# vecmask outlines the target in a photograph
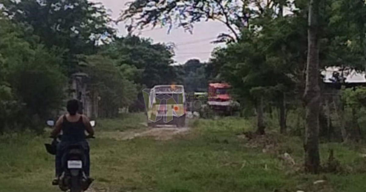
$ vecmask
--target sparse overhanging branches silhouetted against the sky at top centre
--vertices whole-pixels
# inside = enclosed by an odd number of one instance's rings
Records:
[[[120,20],[131,21],[128,31],[149,25],[168,26],[170,31],[176,24],[191,33],[194,23],[216,20],[229,30],[220,34],[218,41],[232,42],[240,38],[240,31],[249,26],[251,19],[280,14],[285,4],[283,0],[134,0]]]

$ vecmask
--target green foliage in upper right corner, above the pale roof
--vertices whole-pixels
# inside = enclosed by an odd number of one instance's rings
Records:
[[[364,69],[366,5],[362,1],[325,1],[321,11],[320,64]]]

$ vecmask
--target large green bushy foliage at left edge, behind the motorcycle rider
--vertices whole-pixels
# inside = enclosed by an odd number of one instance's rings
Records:
[[[63,99],[60,57],[40,44],[22,39],[21,27],[0,19],[0,108],[2,126],[39,128]]]

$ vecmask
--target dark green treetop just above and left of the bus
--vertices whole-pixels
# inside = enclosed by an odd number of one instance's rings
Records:
[[[153,44],[149,39],[137,36],[116,38],[111,44],[105,45],[102,55],[116,61],[128,80],[139,87],[152,88],[157,84],[171,84],[175,71],[170,64],[172,50],[164,44]]]

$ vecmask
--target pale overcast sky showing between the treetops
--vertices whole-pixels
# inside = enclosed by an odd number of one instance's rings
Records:
[[[101,2],[107,9],[112,11],[113,19],[118,18],[121,10],[125,8],[125,4],[131,0],[93,0]],[[119,33],[126,35],[124,23],[117,26]],[[153,39],[154,42],[173,42],[177,45],[175,50],[175,60],[178,63],[185,63],[188,59],[196,58],[201,61],[207,61],[211,55],[213,48],[217,45],[211,44],[217,35],[226,32],[226,27],[219,22],[201,22],[194,26],[193,34],[184,32],[183,29],[173,29],[167,34],[167,28],[151,28],[142,30],[141,37]]]

